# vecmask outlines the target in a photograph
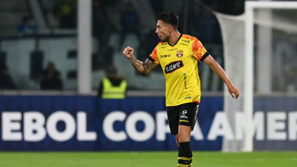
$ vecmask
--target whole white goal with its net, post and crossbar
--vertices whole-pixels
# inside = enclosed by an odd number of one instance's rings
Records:
[[[243,15],[215,15],[241,91],[235,100],[224,90],[222,151],[297,151],[297,2],[247,1]]]

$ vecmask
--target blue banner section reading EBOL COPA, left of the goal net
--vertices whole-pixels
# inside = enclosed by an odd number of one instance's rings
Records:
[[[201,99],[193,150],[221,150],[207,139],[222,97]],[[176,150],[164,97],[103,100],[94,96],[1,96],[1,151]]]

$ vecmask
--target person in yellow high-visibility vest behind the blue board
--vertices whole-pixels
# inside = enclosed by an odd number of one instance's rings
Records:
[[[127,81],[117,75],[117,69],[110,66],[105,70],[106,76],[98,88],[98,96],[102,99],[124,99],[126,97]]]

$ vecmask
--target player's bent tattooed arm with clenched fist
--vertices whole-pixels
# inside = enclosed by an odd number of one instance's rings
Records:
[[[145,76],[148,75],[154,68],[158,66],[158,64],[150,61],[149,59],[146,59],[145,62],[141,62],[137,60],[134,55],[134,50],[131,47],[127,47],[123,51],[123,55],[128,58],[132,64],[132,66],[135,68],[137,72],[139,72],[141,75]]]

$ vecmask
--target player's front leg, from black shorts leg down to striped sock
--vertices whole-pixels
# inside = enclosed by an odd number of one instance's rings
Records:
[[[186,103],[181,106],[179,113],[179,158],[178,166],[191,167],[193,154],[190,145],[191,131],[196,124],[196,115],[198,113],[198,103]]]

